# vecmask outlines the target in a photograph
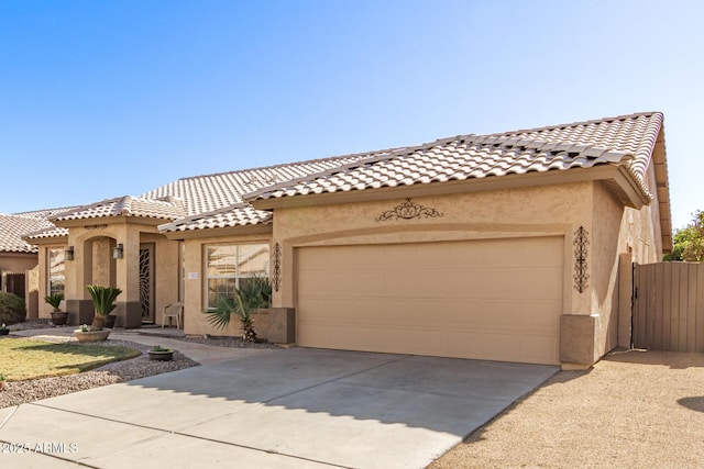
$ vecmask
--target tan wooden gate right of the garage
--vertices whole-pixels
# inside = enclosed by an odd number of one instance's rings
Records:
[[[704,264],[634,265],[635,348],[704,351]]]

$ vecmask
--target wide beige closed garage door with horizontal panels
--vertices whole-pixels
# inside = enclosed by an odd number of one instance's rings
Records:
[[[562,237],[297,255],[300,346],[559,362]]]

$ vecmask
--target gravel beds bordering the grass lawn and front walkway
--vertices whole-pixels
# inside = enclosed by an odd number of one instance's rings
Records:
[[[16,330],[37,330],[50,327],[45,320],[30,320],[28,322],[8,326],[11,331]],[[62,327],[62,326],[57,326]],[[76,328],[76,326],[66,326]],[[158,334],[154,334],[158,337]],[[166,336],[164,336],[166,337]],[[45,342],[76,342],[74,337],[58,337],[52,335],[40,335],[32,337],[37,340]],[[168,338],[177,338],[168,336]],[[11,337],[2,338],[2,340],[12,340]],[[219,347],[257,347],[257,348],[277,348],[272,344],[245,344],[237,337],[184,337],[180,340],[195,342],[199,344],[215,345]],[[185,357],[178,351],[174,351],[173,361],[155,361],[150,360],[147,350],[151,346],[135,344],[129,340],[110,339],[101,343],[101,345],[123,345],[127,347],[142,350],[142,356],[125,361],[116,361],[91,371],[56,378],[43,378],[28,381],[15,381],[6,383],[6,389],[0,391],[0,409],[19,405],[25,402],[37,401],[40,399],[53,398],[56,395],[68,394],[70,392],[82,391],[99,386],[114,384],[117,382],[131,381],[133,379],[145,378],[147,376],[160,375],[169,371],[176,371],[184,368],[198,366],[197,361]]]

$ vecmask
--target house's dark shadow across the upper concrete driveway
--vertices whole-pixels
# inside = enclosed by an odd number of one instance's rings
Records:
[[[484,424],[556,372],[554,366],[294,348],[261,350],[129,386],[464,437],[469,426]],[[253,411],[232,405],[230,412]]]

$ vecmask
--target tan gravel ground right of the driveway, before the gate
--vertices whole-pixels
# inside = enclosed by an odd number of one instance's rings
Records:
[[[428,469],[574,467],[704,467],[704,354],[629,350],[562,371]]]

